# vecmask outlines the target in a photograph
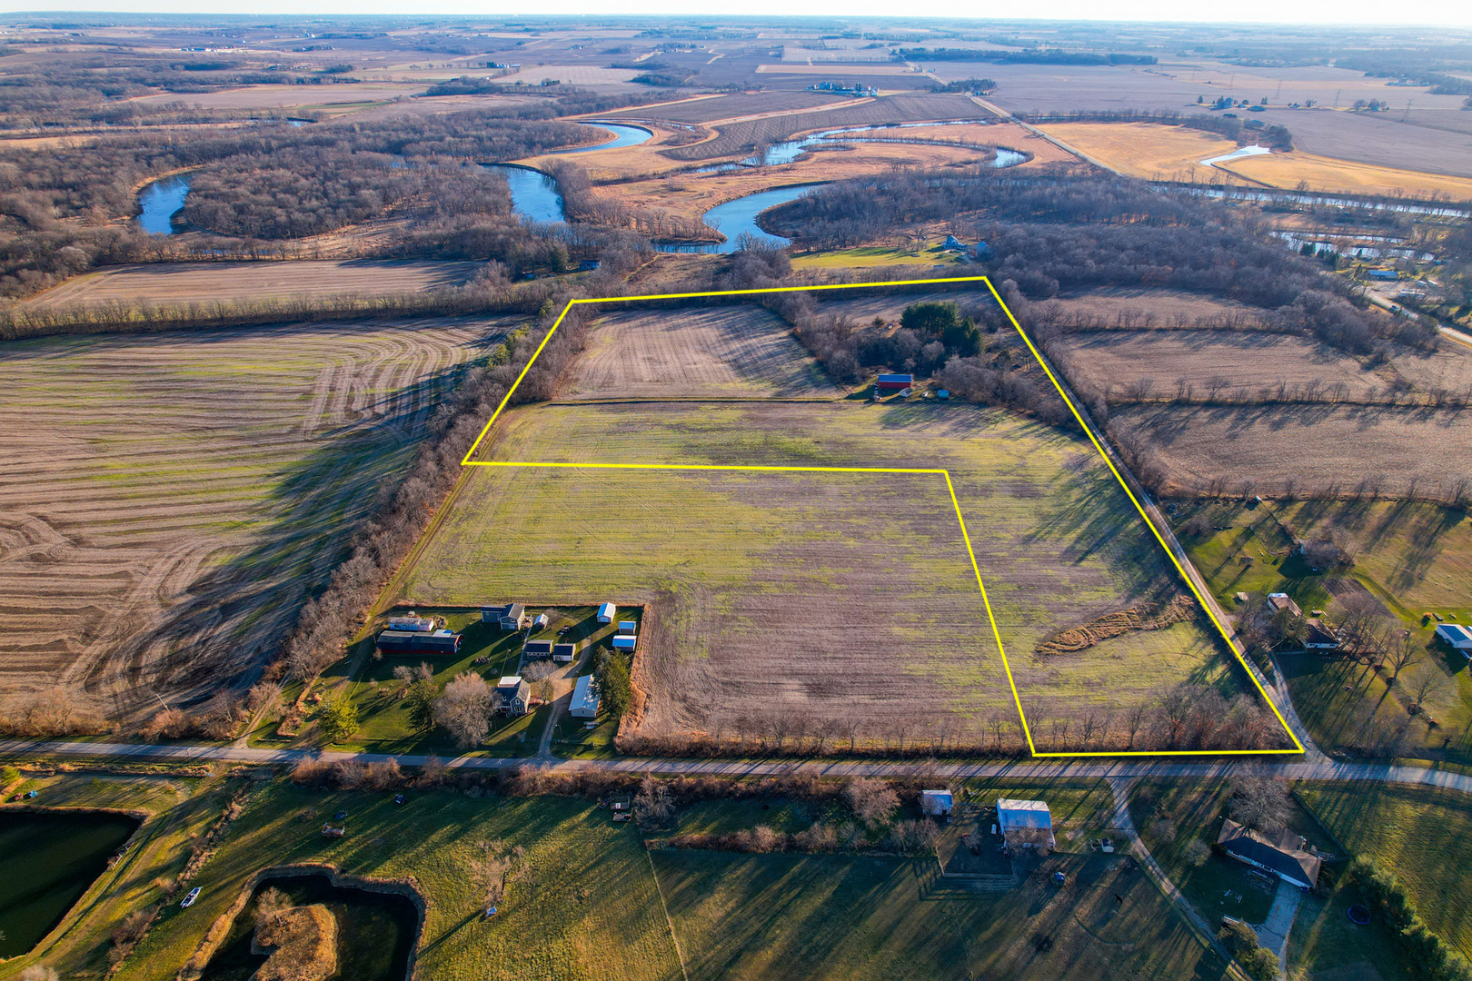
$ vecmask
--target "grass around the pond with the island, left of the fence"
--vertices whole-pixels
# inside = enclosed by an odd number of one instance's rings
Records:
[[[649,859],[631,825],[614,825],[592,802],[503,799],[450,791],[322,793],[281,782],[262,788],[231,827],[196,884],[199,902],[171,907],[118,975],[172,978],[206,928],[266,866],[324,862],[372,878],[412,877],[427,899],[417,975],[436,981],[620,978],[673,981],[680,963]],[[347,810],[347,835],[318,834]],[[500,913],[481,915],[470,865],[480,843],[527,850],[528,875],[512,882]]]

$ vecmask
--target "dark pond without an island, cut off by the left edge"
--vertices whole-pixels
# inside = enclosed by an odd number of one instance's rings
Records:
[[[0,957],[38,944],[137,830],[116,813],[0,812]]]

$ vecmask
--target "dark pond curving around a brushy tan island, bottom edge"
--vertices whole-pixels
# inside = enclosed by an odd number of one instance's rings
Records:
[[[321,903],[337,919],[337,974],[353,981],[405,981],[420,930],[420,910],[406,896],[333,885],[327,875],[278,875],[263,880],[230,935],[205,966],[200,981],[249,981],[266,962],[250,952],[256,900],[268,888],[287,894],[293,906]]]

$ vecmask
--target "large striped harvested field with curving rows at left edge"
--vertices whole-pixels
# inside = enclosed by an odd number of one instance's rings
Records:
[[[124,716],[274,653],[490,321],[3,346],[3,694]]]

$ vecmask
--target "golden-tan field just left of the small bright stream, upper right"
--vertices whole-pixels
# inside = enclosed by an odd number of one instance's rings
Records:
[[[1054,122],[1039,128],[1120,174],[1142,181],[1220,179],[1223,175],[1204,166],[1201,160],[1236,149],[1235,140],[1211,132],[1148,122]]]

